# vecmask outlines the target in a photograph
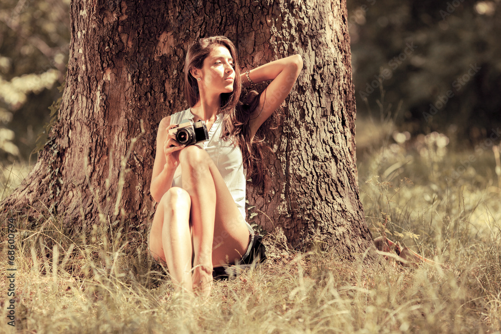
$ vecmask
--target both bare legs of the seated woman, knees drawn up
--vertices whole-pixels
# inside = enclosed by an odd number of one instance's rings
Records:
[[[155,259],[167,262],[178,289],[192,291],[194,287],[198,294],[208,296],[212,266],[241,257],[249,232],[207,152],[187,146],[180,151],[179,161],[184,189],[170,188],[158,204],[150,232],[150,252]]]

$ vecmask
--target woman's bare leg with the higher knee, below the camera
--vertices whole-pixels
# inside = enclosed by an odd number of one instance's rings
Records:
[[[246,250],[249,232],[221,174],[198,146],[179,152],[183,189],[191,197],[193,287],[208,296],[212,266],[232,262]]]

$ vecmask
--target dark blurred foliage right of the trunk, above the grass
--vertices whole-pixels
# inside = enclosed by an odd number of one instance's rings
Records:
[[[348,18],[359,117],[384,98],[399,129],[412,135],[439,131],[474,144],[496,130],[499,0],[351,0]]]

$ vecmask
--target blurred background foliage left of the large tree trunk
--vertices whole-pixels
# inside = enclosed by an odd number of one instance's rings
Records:
[[[0,160],[30,160],[46,141],[49,107],[62,95],[70,42],[70,0],[2,0]],[[31,159],[34,163],[36,156]]]

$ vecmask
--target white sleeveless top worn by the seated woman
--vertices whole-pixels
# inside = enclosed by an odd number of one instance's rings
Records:
[[[179,124],[185,119],[193,121],[194,117],[191,108],[189,108],[171,115],[170,124]],[[238,145],[234,145],[230,140],[220,139],[223,130],[222,119],[222,114],[216,115],[216,120],[208,131],[209,140],[195,145],[204,149],[212,158],[245,220],[245,169],[243,168],[242,152]],[[181,165],[177,167],[174,173],[172,186],[182,188]],[[247,222],[246,224],[249,230],[252,231]]]

